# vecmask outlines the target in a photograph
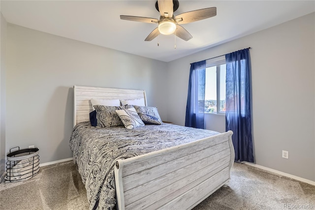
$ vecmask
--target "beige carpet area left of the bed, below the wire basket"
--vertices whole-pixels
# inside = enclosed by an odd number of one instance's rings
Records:
[[[0,183],[0,210],[87,210],[85,187],[76,165],[40,168],[27,181]]]

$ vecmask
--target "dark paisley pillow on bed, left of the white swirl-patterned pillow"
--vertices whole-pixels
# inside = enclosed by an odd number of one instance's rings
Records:
[[[126,106],[106,106],[106,105],[95,105],[96,119],[98,127],[116,127],[124,126],[123,122],[119,118],[116,110],[131,108],[132,105]]]

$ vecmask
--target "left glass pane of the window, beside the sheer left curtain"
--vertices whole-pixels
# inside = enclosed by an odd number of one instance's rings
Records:
[[[217,113],[217,67],[206,69],[205,88],[205,113]]]

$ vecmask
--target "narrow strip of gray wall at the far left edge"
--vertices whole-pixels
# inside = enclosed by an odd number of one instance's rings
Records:
[[[6,21],[0,13],[0,177],[5,170],[5,48]]]

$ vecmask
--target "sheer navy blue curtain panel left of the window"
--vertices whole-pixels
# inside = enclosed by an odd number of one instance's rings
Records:
[[[206,61],[190,65],[185,126],[204,128]]]

